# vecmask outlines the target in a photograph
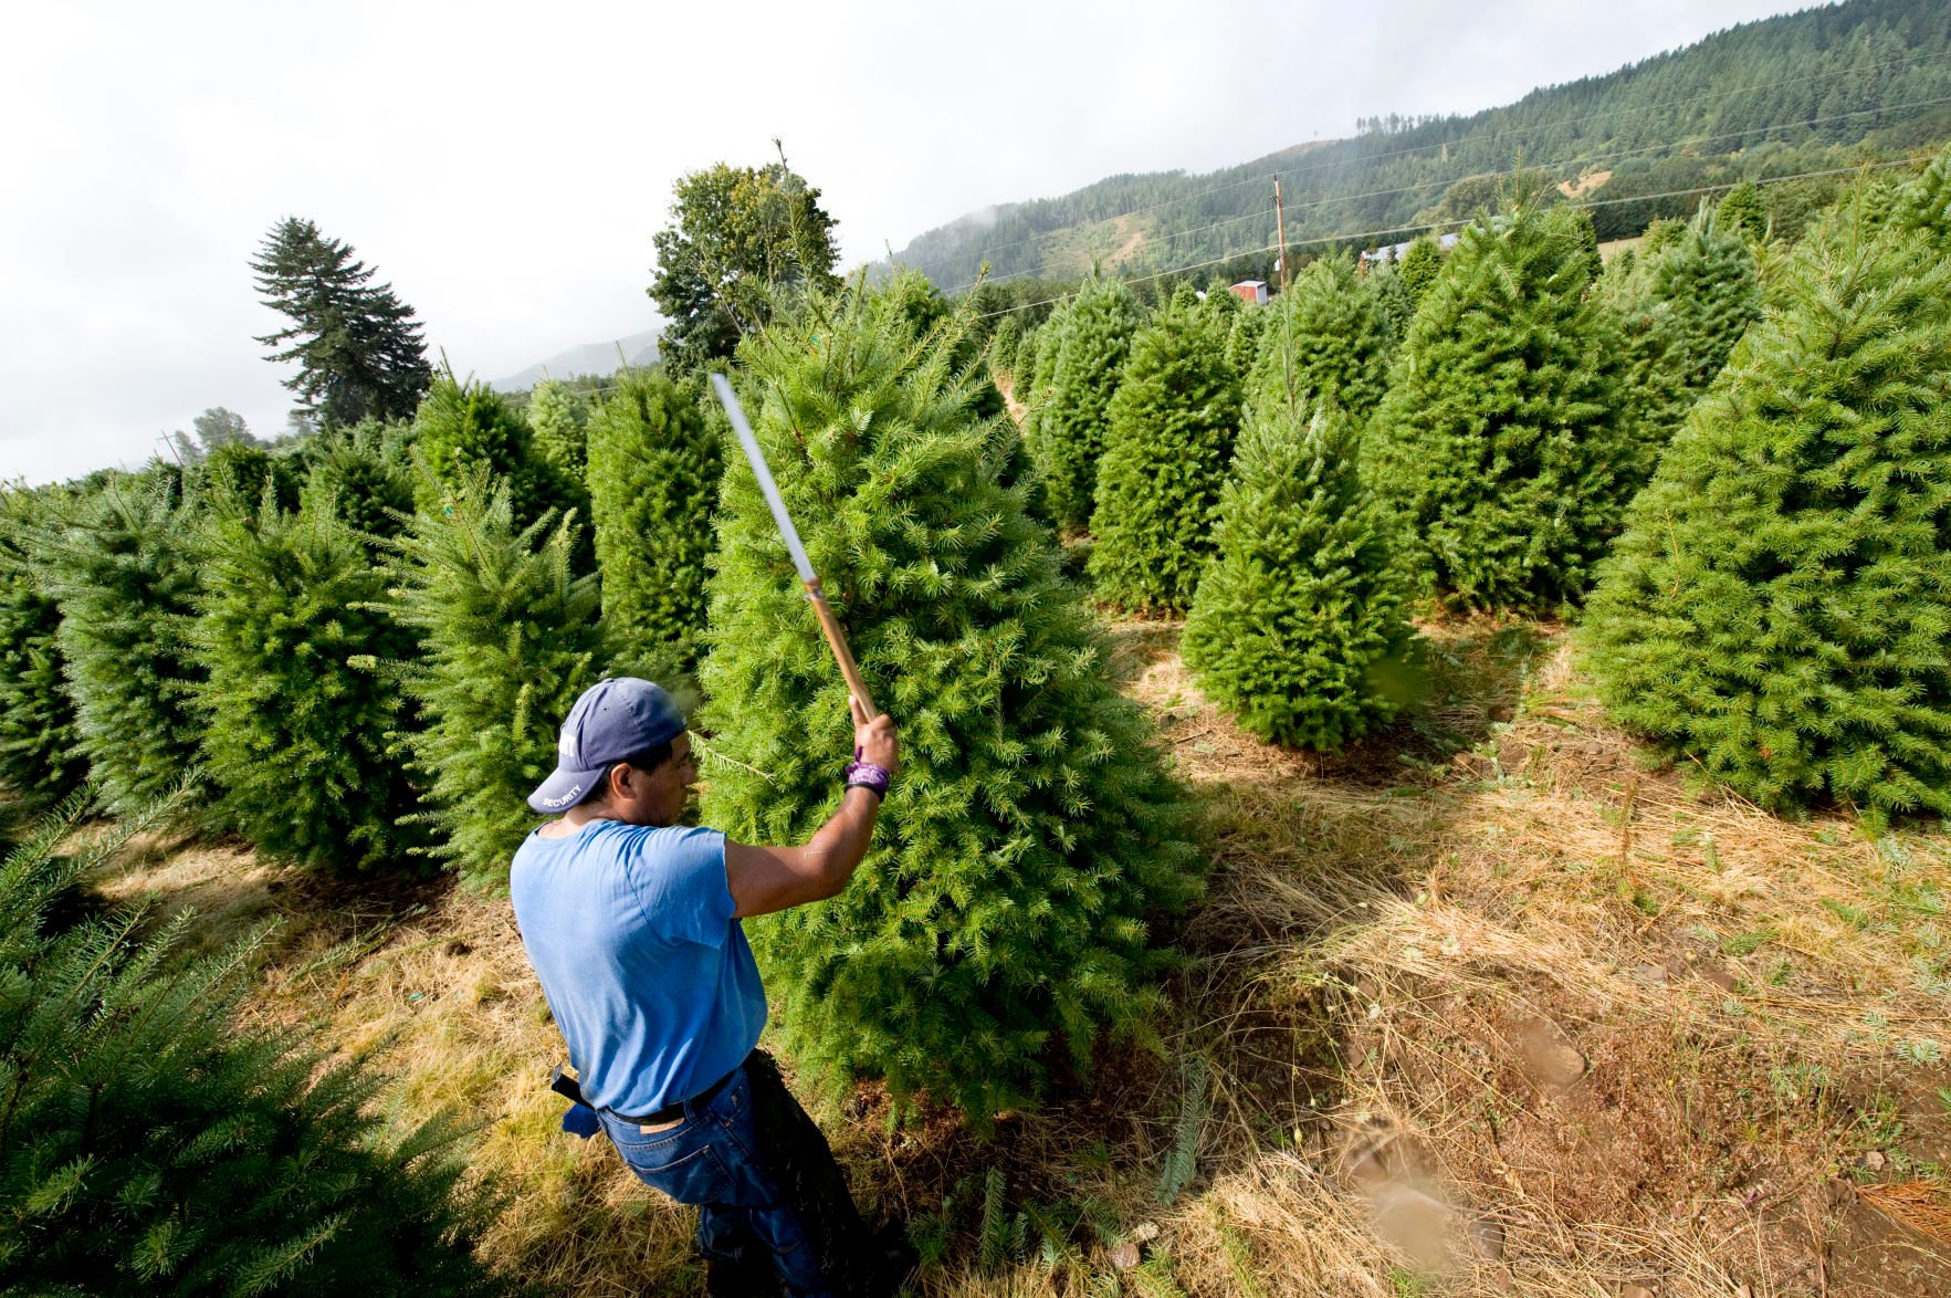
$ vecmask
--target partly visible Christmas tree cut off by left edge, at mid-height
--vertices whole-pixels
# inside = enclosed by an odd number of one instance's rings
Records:
[[[86,775],[60,658],[60,607],[33,562],[49,492],[0,492],[0,785],[39,810]]]

